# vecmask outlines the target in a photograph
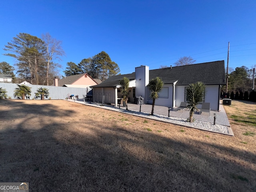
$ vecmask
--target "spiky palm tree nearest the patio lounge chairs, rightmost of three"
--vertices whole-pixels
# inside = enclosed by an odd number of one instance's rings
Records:
[[[187,91],[187,102],[186,108],[190,108],[188,121],[193,122],[194,112],[198,110],[196,107],[199,103],[203,102],[205,96],[205,84],[203,82],[196,82],[195,84],[189,84]]]

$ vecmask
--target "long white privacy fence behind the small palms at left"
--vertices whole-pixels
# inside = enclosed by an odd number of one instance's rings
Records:
[[[21,85],[21,84],[20,84]],[[78,98],[84,98],[91,90],[91,88],[71,88],[71,87],[56,87],[56,86],[46,86],[46,85],[26,85],[28,87],[31,87],[31,96],[30,99],[35,97],[36,90],[38,88],[47,88],[49,89],[49,98],[51,99],[66,99],[70,95],[78,95]],[[11,97],[12,99],[17,99],[14,98],[14,90],[17,88],[16,83],[0,83],[0,88],[6,89],[7,91],[7,96]],[[47,99],[47,98],[45,98]]]

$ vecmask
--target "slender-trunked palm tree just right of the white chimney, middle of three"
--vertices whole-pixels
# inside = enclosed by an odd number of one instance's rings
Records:
[[[162,90],[164,82],[160,77],[156,77],[149,81],[148,86],[151,91],[150,98],[153,99],[151,115],[154,115],[155,100],[158,99],[158,94]]]

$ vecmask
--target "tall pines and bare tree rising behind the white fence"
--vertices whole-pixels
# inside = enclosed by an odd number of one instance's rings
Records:
[[[60,65],[55,63],[65,55],[62,42],[42,34],[41,38],[27,33],[19,33],[4,50],[6,56],[17,60],[17,74],[20,79],[26,79],[31,84],[52,84],[54,75],[58,74]]]

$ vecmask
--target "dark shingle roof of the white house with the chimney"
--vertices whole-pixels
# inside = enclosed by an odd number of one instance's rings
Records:
[[[101,84],[91,87],[115,87],[123,77],[134,80],[135,72],[111,76]],[[226,83],[224,60],[149,70],[149,79],[155,77],[161,77],[164,84],[173,84],[177,80],[176,85],[189,85],[198,81],[202,81],[206,85]]]

